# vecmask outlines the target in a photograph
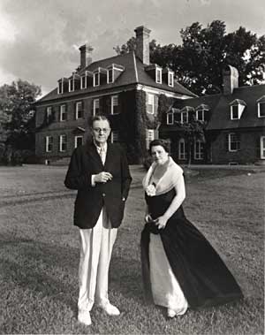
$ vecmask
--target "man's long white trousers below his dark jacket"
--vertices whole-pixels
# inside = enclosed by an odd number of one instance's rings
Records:
[[[79,310],[91,310],[94,302],[105,305],[109,302],[108,283],[112,247],[117,237],[117,228],[110,226],[103,207],[92,229],[79,229]]]

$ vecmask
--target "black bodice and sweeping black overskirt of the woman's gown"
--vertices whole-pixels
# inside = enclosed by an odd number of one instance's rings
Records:
[[[154,219],[162,216],[175,195],[175,189],[161,195],[145,194],[151,216]],[[161,235],[170,267],[189,307],[214,306],[243,297],[230,270],[208,240],[186,219],[182,206],[170,217],[163,230],[155,228],[154,232],[159,232]],[[153,301],[148,255],[150,233],[150,228],[146,225],[141,232],[140,240],[142,275],[147,301]]]

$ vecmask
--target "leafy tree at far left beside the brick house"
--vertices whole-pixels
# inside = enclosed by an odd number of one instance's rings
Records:
[[[41,88],[26,80],[0,87],[0,141],[16,149],[34,148],[34,108]]]

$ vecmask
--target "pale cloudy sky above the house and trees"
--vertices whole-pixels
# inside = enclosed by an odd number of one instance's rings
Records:
[[[79,65],[79,46],[93,60],[115,56],[113,47],[151,30],[150,40],[181,44],[180,30],[215,19],[231,33],[240,26],[265,34],[264,0],[0,0],[0,86],[27,80],[47,94]]]

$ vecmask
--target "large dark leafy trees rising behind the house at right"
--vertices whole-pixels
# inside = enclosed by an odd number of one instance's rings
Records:
[[[169,66],[178,82],[198,95],[223,91],[223,68],[239,70],[239,85],[254,85],[264,80],[265,35],[258,37],[246,28],[226,34],[223,21],[214,20],[207,27],[194,22],[181,29],[182,44],[161,46],[150,42],[150,61]],[[121,53],[135,48],[133,37],[121,47]]]

